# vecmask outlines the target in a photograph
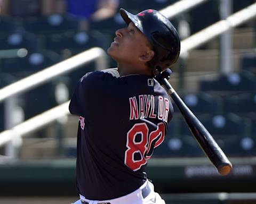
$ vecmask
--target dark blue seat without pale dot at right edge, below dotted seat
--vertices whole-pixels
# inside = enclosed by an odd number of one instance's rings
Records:
[[[223,111],[233,113],[256,112],[256,92],[225,97]]]

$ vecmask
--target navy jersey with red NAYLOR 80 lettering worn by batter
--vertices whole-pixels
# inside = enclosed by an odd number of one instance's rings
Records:
[[[109,200],[137,190],[173,114],[160,84],[146,75],[120,77],[116,69],[94,71],[78,82],[69,111],[79,116],[79,193]]]

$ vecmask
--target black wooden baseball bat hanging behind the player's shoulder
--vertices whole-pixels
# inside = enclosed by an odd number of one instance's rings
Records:
[[[205,155],[210,159],[212,164],[217,168],[219,174],[227,175],[231,172],[232,164],[221,150],[217,142],[213,139],[212,135],[206,130],[204,125],[198,120],[198,118],[190,111],[187,105],[182,101],[177,92],[172,88],[171,84],[167,80],[170,77],[163,75],[161,78],[161,84],[165,87],[168,94],[173,99],[174,103],[179,108],[183,118],[185,119],[190,132],[193,134],[196,141],[199,143],[199,146],[205,152]],[[166,79],[167,78],[167,79]]]

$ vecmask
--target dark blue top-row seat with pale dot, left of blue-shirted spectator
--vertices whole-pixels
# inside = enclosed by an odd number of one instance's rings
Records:
[[[78,24],[78,19],[68,14],[30,17],[23,21],[26,31],[39,34],[78,30]]]

